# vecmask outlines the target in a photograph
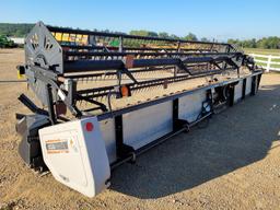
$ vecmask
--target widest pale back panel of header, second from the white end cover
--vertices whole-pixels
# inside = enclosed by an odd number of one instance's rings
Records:
[[[173,129],[173,102],[165,102],[122,116],[124,143],[139,149]]]

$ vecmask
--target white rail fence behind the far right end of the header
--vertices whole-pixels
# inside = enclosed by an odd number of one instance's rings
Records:
[[[255,61],[266,69],[266,72],[269,71],[279,71],[280,72],[280,56],[272,55],[259,55],[259,54],[250,54],[254,57]],[[275,61],[279,60],[279,61]]]

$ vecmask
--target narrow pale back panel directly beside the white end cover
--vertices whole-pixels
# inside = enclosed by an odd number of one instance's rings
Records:
[[[100,121],[102,138],[105,141],[105,147],[109,163],[113,163],[117,160],[116,156],[116,132],[115,132],[115,120],[106,119]]]

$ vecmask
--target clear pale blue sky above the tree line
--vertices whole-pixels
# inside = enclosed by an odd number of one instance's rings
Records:
[[[129,33],[167,32],[226,40],[280,36],[280,0],[2,0],[0,23]]]

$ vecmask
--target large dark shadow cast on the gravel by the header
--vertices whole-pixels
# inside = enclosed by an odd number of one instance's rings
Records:
[[[159,198],[190,189],[264,159],[279,139],[280,85],[261,86],[254,97],[213,116],[150,150],[113,173],[112,189],[138,198]]]

